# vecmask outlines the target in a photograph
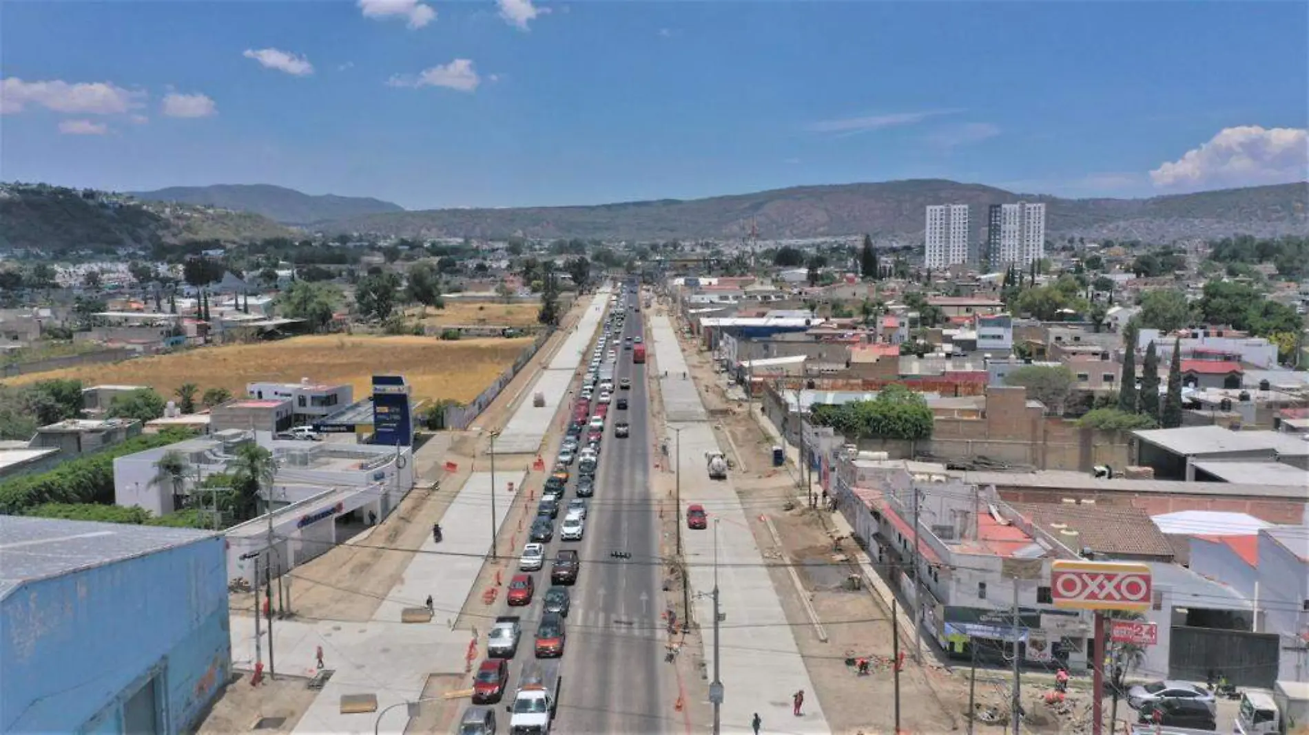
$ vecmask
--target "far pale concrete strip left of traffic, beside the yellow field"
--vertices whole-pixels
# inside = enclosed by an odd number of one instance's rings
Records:
[[[496,454],[535,454],[550,432],[559,405],[568,395],[568,386],[577,374],[586,353],[586,345],[596,336],[605,307],[609,305],[609,290],[601,289],[590,299],[590,306],[577,320],[577,327],[568,335],[550,360],[550,366],[541,371],[535,382],[526,390],[528,399],[514,411],[509,422],[495,442]],[[543,405],[534,405],[533,396],[542,394]]]

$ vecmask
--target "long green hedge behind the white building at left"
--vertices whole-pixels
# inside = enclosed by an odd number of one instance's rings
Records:
[[[181,429],[136,437],[105,451],[64,462],[48,472],[24,475],[0,483],[0,513],[21,515],[45,504],[111,505],[115,458],[166,446],[188,437],[191,433]]]

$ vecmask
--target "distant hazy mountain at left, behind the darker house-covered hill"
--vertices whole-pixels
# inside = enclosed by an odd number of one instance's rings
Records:
[[[283,225],[314,225],[327,220],[404,211],[399,204],[381,199],[332,194],[314,196],[272,184],[173,186],[130,194],[147,201],[174,201],[251,212]]]

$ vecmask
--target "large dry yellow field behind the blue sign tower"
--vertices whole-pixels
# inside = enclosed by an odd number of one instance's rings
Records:
[[[7,382],[21,385],[76,378],[86,386],[144,385],[168,398],[182,383],[195,383],[202,394],[223,387],[232,395],[245,395],[246,383],[255,381],[289,383],[309,378],[323,383],[350,383],[359,400],[370,394],[376,373],[404,375],[415,399],[467,402],[512,365],[530,343],[526,337],[437,341],[418,336],[314,335],[68,368]]]

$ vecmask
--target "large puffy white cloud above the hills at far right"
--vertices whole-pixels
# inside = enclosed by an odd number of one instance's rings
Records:
[[[1223,128],[1208,143],[1149,173],[1160,188],[1241,187],[1309,178],[1304,128]]]

